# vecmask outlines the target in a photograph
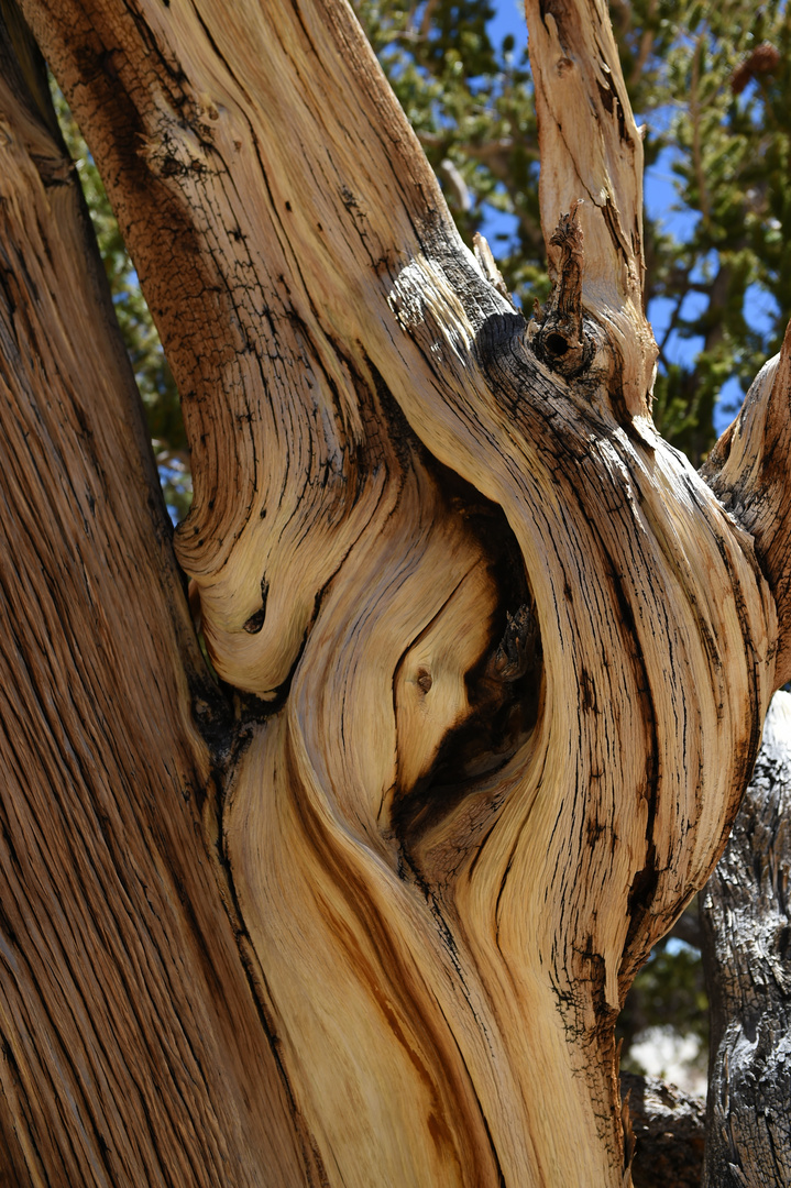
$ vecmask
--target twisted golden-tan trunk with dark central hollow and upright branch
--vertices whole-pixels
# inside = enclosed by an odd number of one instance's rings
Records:
[[[344,4],[24,11],[182,392],[177,555],[235,690],[214,908],[260,1009],[245,1075],[268,1083],[266,1034],[287,1108],[223,1182],[621,1188],[615,1016],[724,843],[778,621],[648,419],[603,8],[531,17],[580,138],[589,100],[613,116],[586,156],[542,115],[557,285],[531,324]]]

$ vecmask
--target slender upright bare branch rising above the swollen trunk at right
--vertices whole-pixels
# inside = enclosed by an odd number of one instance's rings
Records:
[[[627,413],[651,438],[657,348],[643,283],[643,140],[632,115],[603,0],[526,0],[542,154],[542,225],[551,258],[562,211],[580,208],[584,308],[616,354]]]

